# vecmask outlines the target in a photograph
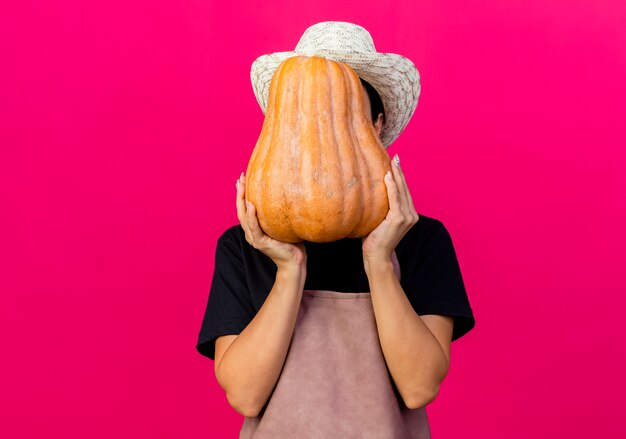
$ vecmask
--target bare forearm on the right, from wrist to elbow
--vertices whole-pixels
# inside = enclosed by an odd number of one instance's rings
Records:
[[[391,260],[366,264],[366,272],[389,372],[407,407],[423,407],[435,398],[445,378],[446,356],[413,309]]]

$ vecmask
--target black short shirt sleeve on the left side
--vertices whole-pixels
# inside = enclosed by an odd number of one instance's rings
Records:
[[[217,241],[215,268],[196,344],[197,351],[215,360],[217,337],[239,334],[253,319],[253,310],[241,247],[233,234],[227,231]]]

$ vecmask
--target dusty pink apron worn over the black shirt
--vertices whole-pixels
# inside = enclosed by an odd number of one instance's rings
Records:
[[[400,265],[393,254],[400,279]],[[303,290],[272,395],[240,439],[430,439],[426,407],[404,404],[378,339],[370,292]]]

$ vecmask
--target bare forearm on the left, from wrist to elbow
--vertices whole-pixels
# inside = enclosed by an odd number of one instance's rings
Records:
[[[306,266],[279,268],[263,306],[219,364],[217,379],[231,406],[244,416],[255,416],[261,410],[278,381],[305,279]]]

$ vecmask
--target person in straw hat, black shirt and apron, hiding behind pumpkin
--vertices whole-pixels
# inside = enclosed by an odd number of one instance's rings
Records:
[[[257,59],[261,107],[268,66],[311,51],[359,74],[365,111],[389,146],[417,105],[417,70],[377,53],[351,23],[316,24],[296,51]],[[430,438],[425,406],[448,372],[451,342],[475,321],[450,235],[416,212],[399,165],[396,155],[382,223],[365,238],[331,243],[266,236],[246,205],[243,173],[237,180],[240,224],[218,239],[197,349],[215,360],[220,386],[245,417],[241,438]]]

